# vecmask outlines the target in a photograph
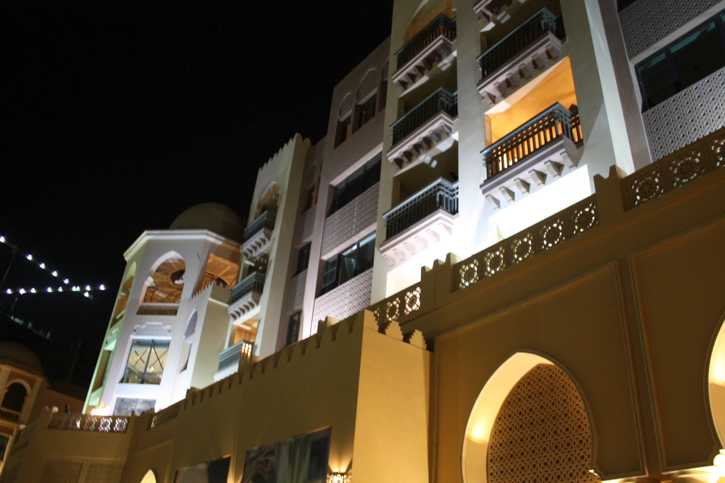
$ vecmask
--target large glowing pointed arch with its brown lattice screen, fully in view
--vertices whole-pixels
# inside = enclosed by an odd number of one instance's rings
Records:
[[[463,442],[466,483],[600,483],[579,390],[551,361],[516,353],[492,375]]]

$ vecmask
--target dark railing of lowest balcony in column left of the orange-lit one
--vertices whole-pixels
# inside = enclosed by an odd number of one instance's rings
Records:
[[[437,209],[444,209],[450,214],[458,212],[458,182],[439,177],[387,211],[383,215],[385,239],[394,237]]]

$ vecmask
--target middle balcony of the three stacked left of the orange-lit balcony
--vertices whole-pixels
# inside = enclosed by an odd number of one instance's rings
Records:
[[[448,138],[457,117],[458,93],[439,88],[390,125],[393,146],[387,152],[388,159],[402,169],[415,156],[423,156]]]

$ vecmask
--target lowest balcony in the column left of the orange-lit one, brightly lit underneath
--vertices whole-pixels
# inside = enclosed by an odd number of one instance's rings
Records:
[[[390,266],[415,256],[453,231],[458,217],[458,183],[438,178],[383,215],[380,252]]]

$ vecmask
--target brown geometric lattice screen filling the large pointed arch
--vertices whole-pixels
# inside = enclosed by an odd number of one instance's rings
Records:
[[[557,366],[535,366],[496,416],[489,483],[600,483],[591,461],[592,432],[579,391]]]

